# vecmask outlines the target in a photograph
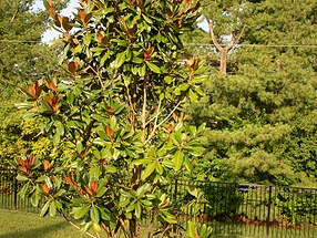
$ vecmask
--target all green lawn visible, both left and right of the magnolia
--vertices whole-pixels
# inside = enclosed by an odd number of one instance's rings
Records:
[[[264,238],[266,227],[213,223],[214,238]],[[146,228],[142,232],[146,234]],[[18,210],[0,209],[0,238],[86,238],[61,217],[40,217]],[[105,236],[102,236],[103,238]],[[145,237],[145,236],[142,236]],[[269,228],[269,238],[315,238],[317,229]]]

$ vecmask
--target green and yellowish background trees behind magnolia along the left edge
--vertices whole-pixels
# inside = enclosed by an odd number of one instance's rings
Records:
[[[61,10],[67,2],[59,1],[57,9]],[[21,114],[13,106],[21,100],[17,85],[40,80],[44,73],[57,70],[58,54],[61,52],[58,45],[49,46],[41,42],[51,20],[45,10],[34,9],[34,3],[35,0],[0,2],[1,159],[23,155],[38,134],[21,123]],[[23,125],[28,132],[23,132]]]

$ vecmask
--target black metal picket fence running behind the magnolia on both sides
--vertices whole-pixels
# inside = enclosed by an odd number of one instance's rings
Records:
[[[0,208],[38,213],[19,188],[16,173],[1,169]],[[317,189],[175,179],[168,190],[180,224],[208,224],[214,237],[317,237]]]

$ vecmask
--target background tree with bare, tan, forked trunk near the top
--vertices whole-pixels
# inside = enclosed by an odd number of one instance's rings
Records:
[[[202,1],[203,18],[209,30],[209,45],[204,45],[209,53],[209,65],[223,74],[233,73],[235,63],[231,58],[235,46],[244,34],[245,15],[249,14],[248,1]]]

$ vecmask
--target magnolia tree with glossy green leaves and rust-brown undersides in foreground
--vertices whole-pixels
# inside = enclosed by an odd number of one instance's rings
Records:
[[[44,0],[62,33],[62,68],[21,91],[25,117],[62,148],[52,159],[17,161],[20,195],[41,215],[81,220],[99,237],[168,234],[177,223],[166,185],[203,153],[198,128],[183,123],[183,103],[197,101],[205,79],[198,60],[182,59],[180,35],[192,30],[192,0],[81,0],[73,19]],[[75,223],[78,224],[78,223]],[[72,224],[73,226],[76,226]]]

